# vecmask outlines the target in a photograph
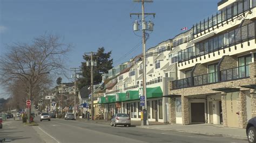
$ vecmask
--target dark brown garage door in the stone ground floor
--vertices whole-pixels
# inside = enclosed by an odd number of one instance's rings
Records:
[[[191,123],[205,123],[204,103],[191,103]]]

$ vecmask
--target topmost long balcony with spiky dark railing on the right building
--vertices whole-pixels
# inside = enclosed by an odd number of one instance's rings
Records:
[[[218,4],[222,4],[226,1],[221,1]],[[201,20],[199,23],[193,25],[193,33],[197,35],[198,33],[205,32],[206,30],[214,29],[214,26],[223,25],[228,19],[234,20],[234,17],[245,13],[247,10],[250,10],[256,6],[256,3],[253,1],[252,6],[250,0],[242,0],[242,2],[233,3],[231,6],[228,6],[226,9],[223,9],[210,17]],[[231,21],[230,20],[230,21]]]

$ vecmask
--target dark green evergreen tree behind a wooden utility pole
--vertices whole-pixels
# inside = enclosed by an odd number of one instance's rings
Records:
[[[97,61],[97,66],[93,67],[93,84],[102,82],[102,74],[108,73],[109,69],[113,68],[113,59],[110,59],[111,51],[104,53],[105,48],[98,48],[96,54],[93,54],[93,61]],[[78,80],[78,88],[90,87],[91,85],[91,67],[86,66],[86,61],[91,61],[90,55],[83,55],[85,62],[82,62],[82,78]]]

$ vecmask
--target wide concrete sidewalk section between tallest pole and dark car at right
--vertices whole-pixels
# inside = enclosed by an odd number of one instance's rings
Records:
[[[171,125],[171,124],[168,124],[168,125],[150,125],[150,126],[139,126],[139,127],[151,128],[154,130],[176,131],[176,132],[186,132],[186,133],[194,133],[194,134],[214,135],[219,137],[247,139],[245,128],[223,127],[223,125],[212,125],[212,124],[193,124],[193,125],[172,124]]]

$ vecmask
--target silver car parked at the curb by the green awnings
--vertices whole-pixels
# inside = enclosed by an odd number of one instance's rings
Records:
[[[111,121],[111,126],[117,126],[117,125],[124,125],[124,126],[131,126],[131,118],[126,113],[116,113]]]

